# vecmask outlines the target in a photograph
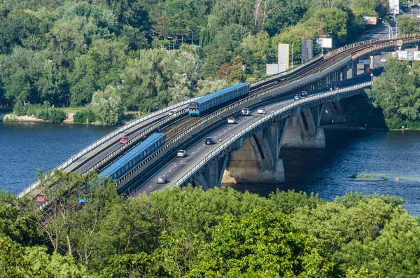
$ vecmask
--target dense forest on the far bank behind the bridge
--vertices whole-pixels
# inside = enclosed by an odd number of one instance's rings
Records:
[[[298,62],[301,39],[328,34],[337,45],[352,41],[365,30],[363,15],[384,15],[386,5],[3,0],[0,105],[59,120],[63,115],[48,107],[92,104],[83,120],[95,112],[102,123],[115,124],[127,109],[153,111],[242,81],[245,74],[263,76],[265,64],[276,61],[279,42],[295,42]]]

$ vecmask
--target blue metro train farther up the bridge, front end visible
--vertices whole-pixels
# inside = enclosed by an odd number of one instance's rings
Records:
[[[228,102],[231,99],[236,99],[246,95],[248,92],[249,83],[239,83],[237,85],[230,86],[197,99],[195,102],[190,102],[190,104],[188,104],[188,114],[191,116],[200,116],[200,114],[207,109],[211,109],[214,106]]]

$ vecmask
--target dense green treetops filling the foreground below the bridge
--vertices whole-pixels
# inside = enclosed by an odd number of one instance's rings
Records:
[[[50,201],[0,194],[0,277],[417,277],[419,219],[398,197],[276,191],[116,194],[93,175],[40,176]],[[78,188],[90,183],[88,202]],[[62,197],[66,193],[66,198]],[[86,196],[84,196],[87,198]]]

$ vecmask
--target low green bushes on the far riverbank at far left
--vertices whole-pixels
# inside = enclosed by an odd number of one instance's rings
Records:
[[[15,104],[15,106],[13,106],[13,111],[17,116],[34,115],[38,119],[50,120],[52,123],[61,123],[66,119],[66,113],[64,110],[51,107],[49,102],[44,102],[43,105],[28,104],[27,106]]]

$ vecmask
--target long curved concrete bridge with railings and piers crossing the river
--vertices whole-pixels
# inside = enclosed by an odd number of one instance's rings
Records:
[[[223,182],[281,182],[284,170],[279,158],[280,148],[325,147],[323,129],[319,127],[325,105],[359,94],[371,85],[369,77],[357,76],[358,61],[418,43],[420,36],[413,35],[338,48],[281,74],[251,83],[248,97],[227,103],[202,117],[188,117],[187,104],[197,98],[188,99],[111,132],[57,168],[82,174],[99,172],[148,135],[163,132],[167,136],[165,146],[119,179],[118,192],[135,195],[186,183],[212,188]],[[322,91],[336,85],[339,90]],[[297,102],[290,101],[290,96],[300,90],[311,94]],[[225,119],[236,116],[245,106],[251,109],[264,106],[268,113],[263,117],[241,118],[238,125],[226,126]],[[168,116],[168,111],[173,109],[177,112]],[[200,144],[211,132],[216,132],[214,137],[223,137],[223,143],[204,149]],[[130,141],[121,145],[122,136],[128,136]],[[180,148],[190,153],[182,161],[174,159]],[[154,178],[160,174],[169,176],[167,185],[156,185]],[[38,183],[32,184],[18,196],[36,193],[37,186]]]

